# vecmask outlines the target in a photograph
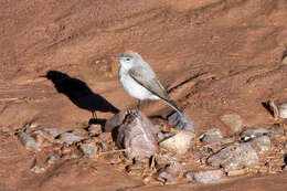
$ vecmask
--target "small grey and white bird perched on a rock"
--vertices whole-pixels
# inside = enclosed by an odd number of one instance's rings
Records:
[[[138,53],[125,51],[116,59],[120,63],[119,82],[130,96],[138,98],[138,110],[141,100],[163,99],[179,114],[183,114],[183,110],[169,98],[168,92],[158,81],[150,65]]]

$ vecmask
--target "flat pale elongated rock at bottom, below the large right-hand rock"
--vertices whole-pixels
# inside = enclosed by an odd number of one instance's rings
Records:
[[[222,170],[204,170],[199,172],[188,172],[185,174],[188,180],[194,180],[201,183],[210,183],[224,178]]]

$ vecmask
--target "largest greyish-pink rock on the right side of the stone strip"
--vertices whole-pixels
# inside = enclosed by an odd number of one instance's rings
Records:
[[[258,162],[258,156],[248,142],[228,146],[208,159],[208,163],[223,167],[225,171]]]

